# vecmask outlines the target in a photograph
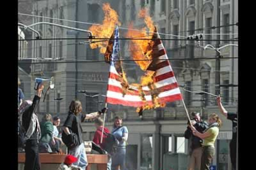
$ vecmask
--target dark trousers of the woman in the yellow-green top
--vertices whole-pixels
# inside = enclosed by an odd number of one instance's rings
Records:
[[[211,161],[215,155],[214,147],[203,147],[200,170],[210,170]]]

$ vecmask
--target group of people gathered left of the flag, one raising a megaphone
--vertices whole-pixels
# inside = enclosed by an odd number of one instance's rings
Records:
[[[79,100],[72,100],[69,105],[67,118],[61,129],[58,129],[61,119],[58,116],[52,118],[51,114],[46,113],[41,123],[39,123],[38,115],[35,109],[41,99],[43,84],[36,90],[33,101],[25,100],[19,105],[19,124],[23,130],[23,146],[25,148],[25,167],[24,170],[39,170],[40,161],[39,153],[59,153],[61,145],[66,145],[68,155],[64,163],[59,169],[83,169],[88,165],[85,145],[82,137],[81,123],[85,119],[95,119],[96,132],[93,142],[104,149],[107,144],[108,134],[112,134],[118,141],[117,145],[108,154],[108,170],[125,168],[126,145],[128,139],[128,130],[126,126],[122,126],[122,118],[114,118],[113,131],[104,128],[103,142],[101,142],[101,134],[103,129],[103,120],[100,118],[107,108],[101,111],[95,111],[89,114],[82,113],[82,104]],[[18,91],[19,92],[19,91]],[[21,122],[21,123],[20,123]],[[19,135],[22,131],[19,129]],[[67,162],[69,164],[67,164]],[[70,163],[72,162],[72,163]]]

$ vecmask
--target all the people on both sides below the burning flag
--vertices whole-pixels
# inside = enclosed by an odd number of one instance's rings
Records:
[[[108,170],[126,170],[126,146],[128,139],[128,129],[122,126],[122,118],[114,118],[113,130],[109,131],[104,127],[103,140],[103,119],[100,118],[102,113],[106,113],[107,108],[101,111],[95,111],[89,114],[82,113],[82,104],[79,100],[72,100],[69,105],[67,118],[62,128],[59,128],[61,119],[58,116],[52,118],[51,114],[46,113],[39,123],[38,115],[35,109],[41,99],[43,84],[36,90],[36,94],[31,100],[23,99],[23,94],[18,89],[18,110],[19,110],[19,136],[23,141],[25,149],[25,167],[24,170],[40,170],[39,154],[40,152],[60,153],[61,146],[66,145],[68,155],[64,162],[59,166],[60,170],[66,169],[83,169],[88,165],[85,145],[82,137],[81,123],[85,119],[94,119],[95,136],[93,142],[108,154]],[[230,155],[232,169],[236,169],[236,133],[237,133],[237,114],[225,110],[221,104],[221,97],[217,97],[220,112],[226,118],[233,121],[233,139],[230,143]],[[193,112],[193,119],[187,124],[187,130],[184,134],[189,139],[190,144],[190,161],[188,170],[200,169],[210,170],[210,165],[215,155],[215,141],[221,127],[221,119],[215,113],[208,118],[208,123],[200,118],[200,113]],[[22,122],[22,123],[20,123]],[[23,133],[22,133],[23,132]],[[117,141],[111,150],[106,149],[109,137],[113,136]]]

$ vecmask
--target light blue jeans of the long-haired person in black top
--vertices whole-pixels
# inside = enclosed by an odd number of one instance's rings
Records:
[[[85,170],[88,165],[87,156],[85,153],[85,145],[82,143],[72,150],[69,150],[69,154],[77,157],[77,162],[73,164]]]

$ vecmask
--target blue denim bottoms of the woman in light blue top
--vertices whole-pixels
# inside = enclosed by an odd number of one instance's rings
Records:
[[[126,148],[117,147],[116,152],[112,156],[111,169],[116,169],[120,166],[121,170],[126,170]]]

